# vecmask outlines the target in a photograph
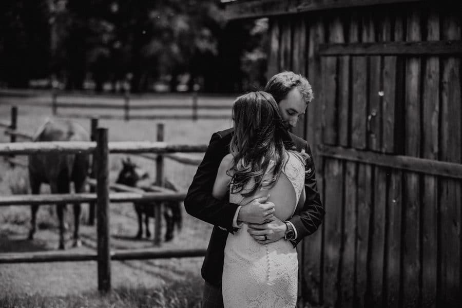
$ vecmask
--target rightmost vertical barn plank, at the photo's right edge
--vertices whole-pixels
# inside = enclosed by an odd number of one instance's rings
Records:
[[[454,14],[454,15],[453,15]],[[460,15],[448,13],[441,18],[443,40],[460,40]],[[460,97],[460,57],[442,59],[441,67],[441,139],[440,160],[461,163],[462,107]],[[455,307],[462,301],[461,271],[461,210],[460,181],[440,181],[440,300],[441,306]]]

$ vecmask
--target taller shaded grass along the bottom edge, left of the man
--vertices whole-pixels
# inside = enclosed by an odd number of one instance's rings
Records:
[[[203,280],[191,277],[173,281],[159,288],[123,286],[101,295],[97,292],[66,297],[44,297],[40,294],[0,295],[0,307],[167,307],[196,308],[202,303]]]

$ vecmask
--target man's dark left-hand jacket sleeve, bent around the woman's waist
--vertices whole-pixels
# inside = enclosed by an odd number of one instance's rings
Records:
[[[230,203],[229,197],[218,200],[212,196],[218,167],[227,153],[226,146],[219,133],[212,135],[204,159],[189,186],[184,207],[188,214],[232,233],[238,205]]]

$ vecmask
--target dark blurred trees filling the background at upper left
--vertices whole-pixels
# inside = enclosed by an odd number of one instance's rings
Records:
[[[0,87],[240,92],[264,85],[267,18],[217,0],[4,0]]]

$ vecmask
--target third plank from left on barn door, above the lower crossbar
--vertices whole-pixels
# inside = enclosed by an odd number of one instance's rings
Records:
[[[350,22],[350,43],[359,41],[359,17],[352,15]],[[352,103],[351,103],[351,146],[357,149],[366,147],[367,119],[367,63],[365,56],[352,56]]]

